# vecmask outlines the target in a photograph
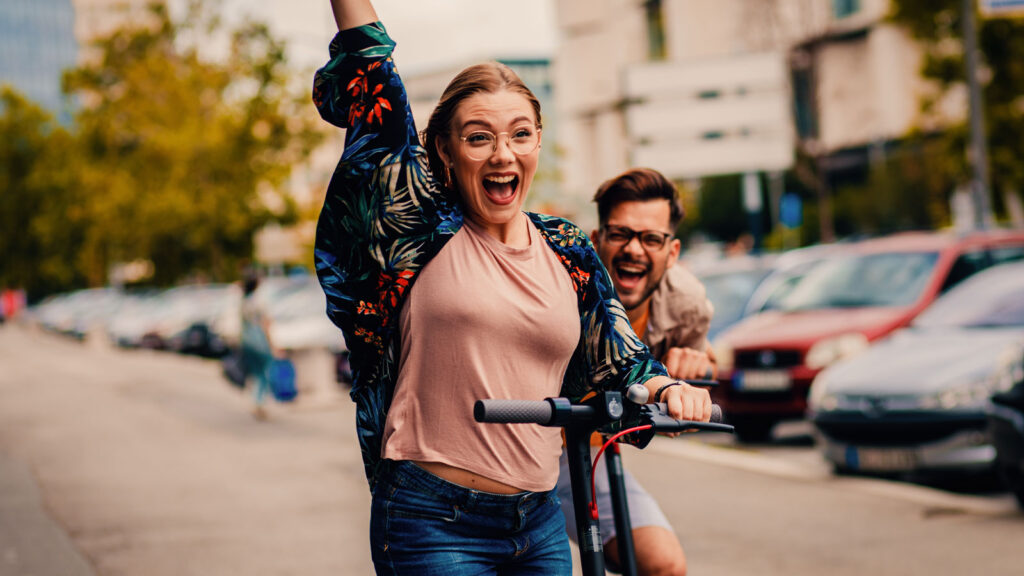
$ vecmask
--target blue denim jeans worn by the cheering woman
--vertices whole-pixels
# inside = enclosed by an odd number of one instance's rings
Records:
[[[452,484],[409,461],[385,461],[370,544],[378,575],[571,575],[558,495],[503,495]]]

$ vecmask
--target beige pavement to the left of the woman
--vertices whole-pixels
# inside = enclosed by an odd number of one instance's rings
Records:
[[[373,573],[343,396],[260,422],[216,362],[11,326],[0,367],[0,576]]]

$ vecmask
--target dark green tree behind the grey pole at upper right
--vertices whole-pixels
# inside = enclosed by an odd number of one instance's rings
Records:
[[[938,87],[937,94],[922,102],[926,121],[936,112],[942,95],[966,79],[962,6],[962,0],[893,0],[892,19],[921,42],[925,50],[922,74]],[[992,190],[1009,197],[1024,189],[1024,19],[978,23]],[[933,169],[962,183],[969,170],[967,136],[965,121],[937,133],[922,130],[916,139],[935,139],[940,161]]]

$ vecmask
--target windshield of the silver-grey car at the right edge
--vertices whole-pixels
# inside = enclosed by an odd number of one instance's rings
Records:
[[[999,266],[1004,268],[1004,266]],[[967,279],[913,321],[915,328],[1024,327],[1024,268],[991,269]]]

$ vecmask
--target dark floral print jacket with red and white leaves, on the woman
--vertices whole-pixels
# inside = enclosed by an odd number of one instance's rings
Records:
[[[345,128],[345,150],[316,228],[327,314],[348,345],[356,429],[371,490],[397,376],[398,313],[417,275],[459,232],[463,208],[431,175],[380,23],[340,32],[316,72],[313,101]],[[665,374],[634,335],[590,240],[567,220],[527,214],[572,279],[580,344],[562,394],[625,389]],[[639,442],[639,440],[638,440]]]

